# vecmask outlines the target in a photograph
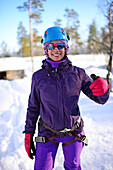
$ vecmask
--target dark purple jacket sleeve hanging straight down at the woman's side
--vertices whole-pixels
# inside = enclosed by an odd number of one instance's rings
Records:
[[[36,86],[35,76],[32,76],[31,93],[28,100],[25,131],[23,133],[35,133],[36,122],[39,116],[39,91]]]

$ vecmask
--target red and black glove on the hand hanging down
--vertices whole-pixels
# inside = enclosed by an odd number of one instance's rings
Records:
[[[36,154],[36,149],[33,142],[33,133],[25,133],[25,150],[29,158],[33,159],[33,156]]]

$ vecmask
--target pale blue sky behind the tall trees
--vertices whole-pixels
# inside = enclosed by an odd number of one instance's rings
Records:
[[[17,28],[21,21],[27,33],[29,33],[28,12],[20,12],[17,9],[17,6],[22,5],[24,1],[0,1],[0,45],[5,41],[10,52],[19,49]],[[43,22],[35,26],[35,28],[38,30],[39,35],[43,36],[48,27],[54,26],[56,19],[61,19],[62,27],[65,27],[65,9],[74,9],[79,15],[81,40],[85,40],[88,35],[88,26],[92,24],[93,19],[95,19],[98,29],[106,25],[106,18],[97,7],[98,2],[99,0],[46,0],[44,2],[44,12],[42,13]]]

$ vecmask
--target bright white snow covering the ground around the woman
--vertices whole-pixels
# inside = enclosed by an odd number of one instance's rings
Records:
[[[41,68],[45,57],[34,58],[35,71]],[[96,73],[106,77],[105,55],[69,56],[73,65],[82,67],[87,74]],[[21,62],[18,62],[20,61]],[[6,67],[7,66],[7,67]],[[0,80],[0,170],[33,170],[34,160],[30,160],[24,149],[24,130],[28,97],[31,88],[31,59],[0,59],[0,70],[23,67],[26,77],[13,81]],[[112,83],[113,84],[113,83]],[[85,122],[85,133],[89,145],[81,154],[83,170],[113,169],[113,93],[105,105],[99,105],[83,93],[79,106]],[[64,170],[63,152],[60,144],[54,170]]]

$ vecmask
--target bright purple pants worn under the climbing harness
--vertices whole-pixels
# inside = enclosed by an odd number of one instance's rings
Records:
[[[83,134],[83,133],[82,133]],[[68,142],[74,137],[56,138],[55,142]],[[75,141],[72,144],[64,145],[64,168],[66,170],[81,170],[80,154],[83,148],[83,143]],[[52,170],[54,168],[55,156],[58,146],[52,142],[37,143],[34,170]]]

